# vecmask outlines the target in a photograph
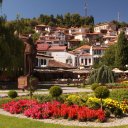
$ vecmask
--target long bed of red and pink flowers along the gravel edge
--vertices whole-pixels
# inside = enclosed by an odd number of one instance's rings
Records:
[[[79,121],[91,121],[98,119],[105,121],[104,111],[101,109],[92,110],[88,107],[80,107],[78,105],[67,105],[57,101],[38,103],[35,100],[19,100],[12,101],[3,105],[3,109],[12,114],[23,113],[27,117],[34,119],[46,118],[67,118],[77,119]]]

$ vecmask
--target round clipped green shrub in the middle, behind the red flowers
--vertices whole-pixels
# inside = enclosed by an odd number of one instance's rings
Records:
[[[62,89],[59,86],[52,86],[49,90],[52,97],[59,97],[62,94]]]

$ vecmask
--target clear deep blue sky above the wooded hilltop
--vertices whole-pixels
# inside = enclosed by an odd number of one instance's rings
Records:
[[[3,0],[1,15],[8,20],[15,20],[19,14],[21,18],[39,17],[40,14],[57,15],[70,12],[85,15],[85,0]],[[118,19],[128,22],[128,0],[86,0],[88,16],[94,16],[95,23]]]

